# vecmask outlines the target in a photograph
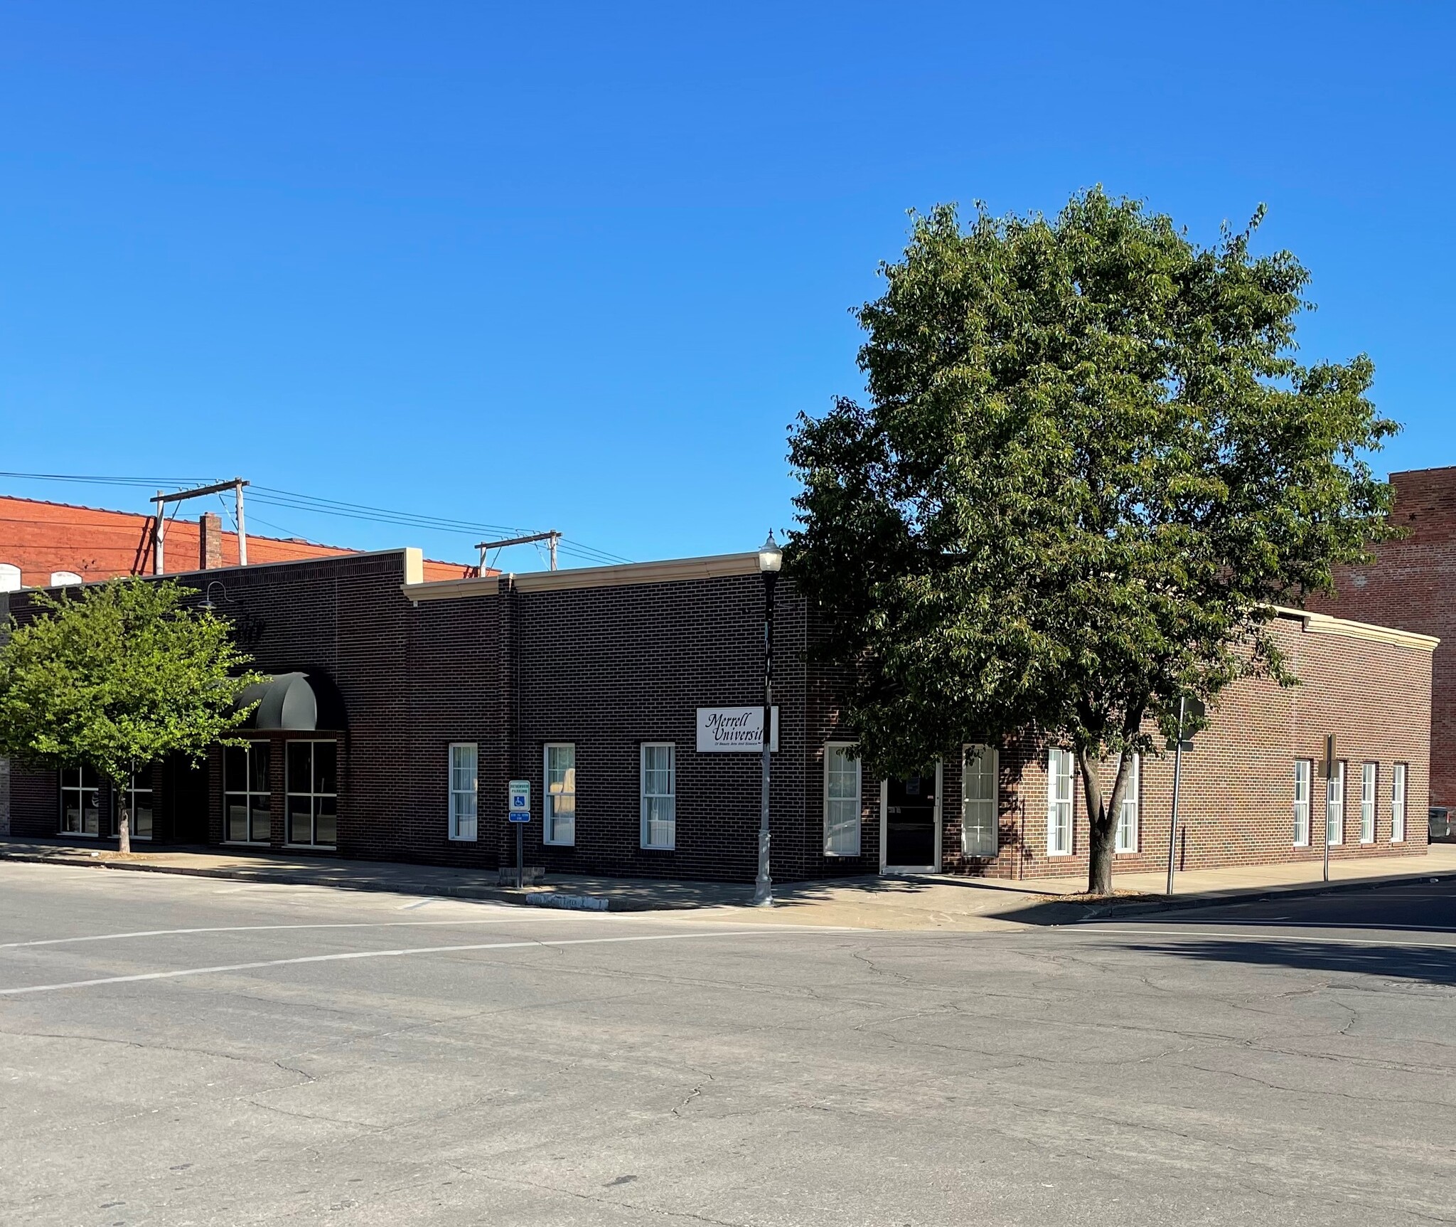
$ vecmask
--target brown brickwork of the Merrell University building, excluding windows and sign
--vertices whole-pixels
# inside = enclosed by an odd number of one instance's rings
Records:
[[[355,555],[210,573],[218,600],[265,672],[331,676],[349,713],[339,730],[339,847],[344,855],[494,867],[514,861],[505,784],[531,781],[527,861],[552,871],[750,880],[756,867],[759,756],[699,755],[697,707],[760,699],[763,586],[756,574],[578,587],[498,590],[412,605],[400,592],[403,555]],[[217,589],[213,590],[218,597]],[[23,600],[19,602],[23,606]],[[23,614],[22,614],[23,616]],[[865,781],[858,857],[824,855],[824,742],[842,736],[844,678],[808,663],[814,630],[780,583],[776,624],[779,752],[773,762],[773,871],[780,880],[874,873],[879,867],[879,784]],[[1431,654],[1383,641],[1307,634],[1281,619],[1303,685],[1232,688],[1184,764],[1185,869],[1318,860],[1319,842],[1291,845],[1293,759],[1319,758],[1334,732],[1350,767],[1347,844],[1337,857],[1425,848]],[[284,842],[284,743],[272,734],[272,842]],[[677,841],[646,851],[639,838],[639,748],[677,746]],[[478,839],[448,836],[448,745],[479,746]],[[577,746],[577,844],[542,845],[546,742]],[[1380,764],[1377,839],[1356,842],[1358,772]],[[1408,834],[1389,842],[1393,762],[1409,764]],[[1075,854],[1045,855],[1045,753],[1002,750],[1000,854],[961,855],[960,762],[946,762],[942,848],[946,871],[999,877],[1086,873],[1086,823],[1076,793]],[[159,772],[159,839],[223,836],[221,755],[204,777]],[[205,783],[199,784],[198,781]],[[1168,854],[1172,761],[1143,764],[1142,842],[1118,869],[1160,869]],[[13,829],[52,835],[54,777],[16,772]],[[205,813],[198,813],[198,807]],[[1324,820],[1316,783],[1312,831]],[[191,834],[189,834],[191,832]]]

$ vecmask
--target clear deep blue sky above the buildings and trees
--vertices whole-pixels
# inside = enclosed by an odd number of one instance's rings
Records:
[[[788,423],[859,389],[849,309],[906,210],[1096,182],[1201,240],[1267,203],[1306,356],[1369,351],[1406,427],[1383,466],[1456,463],[1453,34],[1449,3],[15,0],[0,469],[751,548]]]

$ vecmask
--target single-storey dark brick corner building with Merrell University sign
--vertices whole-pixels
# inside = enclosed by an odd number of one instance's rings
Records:
[[[494,867],[514,860],[507,781],[527,778],[531,864],[754,876],[754,554],[431,580],[418,551],[390,551],[207,577],[274,682],[248,749],[135,781],[143,838]],[[28,616],[23,593],[9,603]],[[836,676],[808,660],[814,632],[782,583],[775,877],[1086,873],[1080,785],[1056,749],[968,746],[923,778],[862,778]],[[1178,863],[1318,861],[1326,820],[1337,858],[1423,854],[1436,641],[1299,611],[1274,632],[1303,682],[1241,682],[1211,713],[1184,762]],[[1171,759],[1140,764],[1118,869],[1166,863],[1171,785]],[[17,835],[112,834],[112,799],[84,769],[16,768],[12,794]]]

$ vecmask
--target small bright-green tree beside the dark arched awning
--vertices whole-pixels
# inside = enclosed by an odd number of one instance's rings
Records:
[[[79,599],[36,593],[44,612],[12,619],[0,646],[0,753],[36,768],[87,764],[121,799],[121,851],[131,851],[130,783],[169,755],[202,759],[230,745],[249,657],[229,625],[183,605],[175,580],[118,579]]]

